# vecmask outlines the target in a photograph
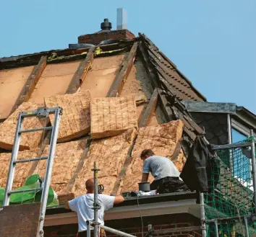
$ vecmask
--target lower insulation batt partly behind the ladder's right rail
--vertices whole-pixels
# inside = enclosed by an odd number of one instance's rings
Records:
[[[67,186],[77,169],[77,165],[85,150],[87,140],[76,140],[69,143],[57,144],[54,157],[54,166],[51,173],[51,187],[57,194],[66,193]],[[43,151],[42,156],[47,156],[49,146]],[[41,177],[46,172],[46,160],[38,162],[34,174]]]

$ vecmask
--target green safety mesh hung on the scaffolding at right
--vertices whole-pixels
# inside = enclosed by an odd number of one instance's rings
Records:
[[[251,147],[236,144],[236,148],[216,151],[208,177],[209,190],[205,193],[205,218],[217,220],[220,237],[247,236],[247,230],[249,236],[256,233]],[[247,228],[244,216],[247,216]],[[216,229],[216,223],[208,223],[208,237],[216,236]]]

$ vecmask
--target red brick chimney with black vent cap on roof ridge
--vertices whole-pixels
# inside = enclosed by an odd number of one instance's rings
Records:
[[[98,45],[103,40],[109,40],[109,39],[131,40],[135,38],[135,35],[133,35],[132,32],[130,32],[127,29],[111,30],[111,28],[112,28],[111,22],[108,22],[108,19],[104,19],[104,21],[101,23],[101,31],[95,32],[93,34],[88,34],[88,35],[80,35],[78,37],[78,43]]]

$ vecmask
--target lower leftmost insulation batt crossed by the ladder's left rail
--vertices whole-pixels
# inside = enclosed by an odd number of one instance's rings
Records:
[[[20,151],[18,153],[18,160],[25,160],[29,158],[35,158],[38,154],[39,149]],[[12,153],[0,153],[0,187],[6,187],[7,177],[9,172],[9,164]],[[25,180],[27,179],[28,171],[32,166],[32,162],[29,163],[17,163],[14,174],[14,182],[12,189],[22,187]]]

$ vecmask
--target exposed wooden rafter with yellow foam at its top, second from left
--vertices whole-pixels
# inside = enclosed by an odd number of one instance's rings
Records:
[[[82,85],[82,82],[85,81],[85,77],[93,64],[94,55],[93,52],[95,47],[90,48],[84,61],[80,63],[77,71],[74,73],[72,80],[70,81],[69,87],[67,88],[66,94],[74,94],[77,89]]]

